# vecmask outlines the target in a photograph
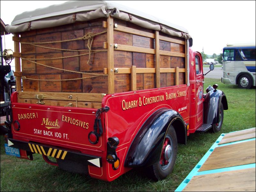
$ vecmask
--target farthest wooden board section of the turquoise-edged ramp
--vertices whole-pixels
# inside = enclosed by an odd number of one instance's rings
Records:
[[[255,128],[246,129],[246,130],[243,130],[243,131],[236,131],[236,132],[233,132],[233,133],[226,134],[222,138],[222,140],[219,144],[241,141],[241,140],[245,140],[245,139],[254,138],[255,136],[256,136]]]

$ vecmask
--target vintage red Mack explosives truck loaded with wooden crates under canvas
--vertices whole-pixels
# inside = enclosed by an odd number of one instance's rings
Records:
[[[24,12],[6,29],[17,84],[7,154],[39,153],[105,181],[148,167],[159,180],[177,143],[221,129],[226,96],[217,85],[203,93],[202,57],[182,27],[109,1],[71,1]]]

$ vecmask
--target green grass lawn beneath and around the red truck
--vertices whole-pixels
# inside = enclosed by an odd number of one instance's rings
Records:
[[[72,174],[50,166],[41,155],[34,161],[7,156],[1,136],[1,191],[174,191],[221,133],[255,127],[255,87],[238,89],[218,79],[205,79],[205,87],[217,83],[228,100],[224,122],[219,133],[195,133],[187,138],[187,145],[178,144],[173,172],[163,181],[148,179],[141,169],[133,169],[115,181],[105,182],[87,175]]]

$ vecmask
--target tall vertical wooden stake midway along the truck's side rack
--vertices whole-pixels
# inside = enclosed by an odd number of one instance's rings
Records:
[[[155,31],[155,87],[160,88],[159,31]]]

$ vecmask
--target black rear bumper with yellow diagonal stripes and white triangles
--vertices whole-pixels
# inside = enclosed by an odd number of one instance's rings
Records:
[[[71,161],[75,160],[76,162],[80,162],[84,165],[102,167],[102,158],[98,156],[86,155],[79,152],[63,150],[55,147],[49,147],[10,138],[8,139],[8,146],[22,149],[25,151],[30,151],[32,153],[39,153],[41,155],[50,156],[57,159],[66,159]]]

